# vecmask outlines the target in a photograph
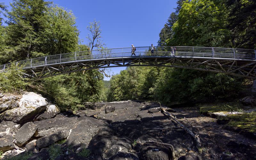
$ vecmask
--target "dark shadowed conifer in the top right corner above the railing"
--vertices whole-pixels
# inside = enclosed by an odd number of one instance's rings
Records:
[[[236,48],[256,49],[256,1],[224,1],[229,10],[228,28]]]

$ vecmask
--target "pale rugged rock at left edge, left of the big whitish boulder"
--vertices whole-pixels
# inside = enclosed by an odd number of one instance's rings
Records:
[[[17,103],[17,100],[19,97],[17,95],[3,95],[0,98],[0,113],[5,111],[5,110],[10,110],[15,107],[19,107],[19,104]]]

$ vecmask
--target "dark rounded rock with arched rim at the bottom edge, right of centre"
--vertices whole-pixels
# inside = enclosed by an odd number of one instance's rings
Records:
[[[174,160],[174,149],[171,144],[146,142],[140,149],[141,159]]]

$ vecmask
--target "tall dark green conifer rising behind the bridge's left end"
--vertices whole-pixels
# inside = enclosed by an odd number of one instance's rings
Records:
[[[45,29],[49,2],[13,0],[10,5],[5,41],[13,50],[6,50],[7,61],[44,56],[39,39]]]

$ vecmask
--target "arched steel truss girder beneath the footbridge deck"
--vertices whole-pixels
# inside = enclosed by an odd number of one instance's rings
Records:
[[[25,72],[23,74],[24,77],[29,78],[29,81],[35,81],[71,72],[127,66],[186,68],[256,79],[256,60],[179,56],[133,56],[89,59],[27,67],[24,68]]]

